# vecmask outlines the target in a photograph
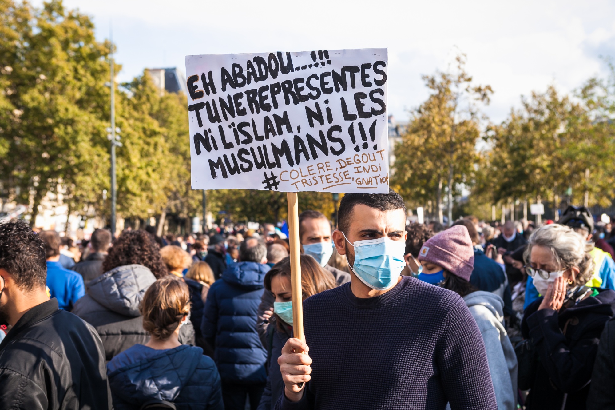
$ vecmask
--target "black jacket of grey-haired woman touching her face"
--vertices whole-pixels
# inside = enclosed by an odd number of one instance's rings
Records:
[[[615,314],[615,291],[598,291],[560,313],[538,310],[542,297],[525,310],[521,331],[538,353],[528,410],[586,408],[600,335]]]

